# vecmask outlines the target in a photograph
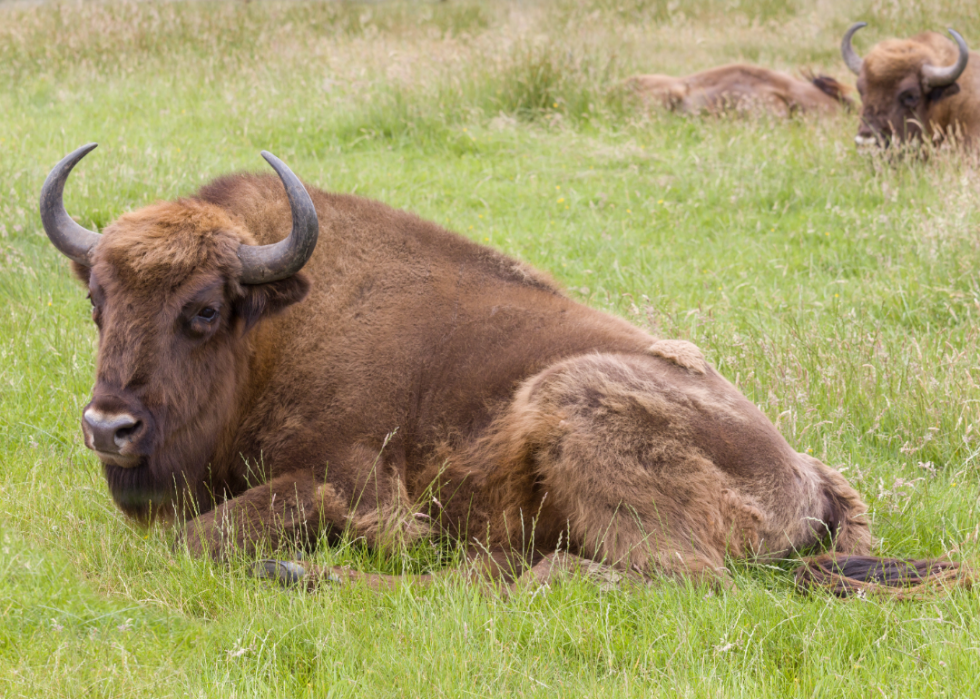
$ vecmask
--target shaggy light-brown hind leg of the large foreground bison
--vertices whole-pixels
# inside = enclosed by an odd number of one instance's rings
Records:
[[[652,353],[700,367],[693,346],[678,345]],[[598,563],[727,584],[725,556],[758,551],[767,517],[692,440],[691,409],[665,387],[662,368],[647,357],[587,355],[525,384],[500,430],[530,445],[508,461],[509,482],[523,485],[510,487],[508,500],[540,494],[547,521],[538,531],[564,529],[566,550]]]

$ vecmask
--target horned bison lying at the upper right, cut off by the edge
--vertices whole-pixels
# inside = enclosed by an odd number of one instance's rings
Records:
[[[970,147],[980,145],[980,56],[967,49],[963,37],[950,29],[955,44],[936,32],[888,39],[862,59],[851,38],[866,26],[853,25],[841,42],[863,103],[855,142],[887,146],[953,137]]]

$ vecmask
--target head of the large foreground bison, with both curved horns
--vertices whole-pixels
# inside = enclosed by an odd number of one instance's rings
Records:
[[[284,240],[253,245],[240,220],[198,199],[125,214],[100,235],[62,203],[65,180],[93,148],[64,158],[41,190],[44,230],[88,286],[99,331],[95,387],[82,411],[85,445],[126,514],[145,520],[207,509],[208,489],[229,478],[209,472],[209,459],[227,447],[246,399],[248,331],[309,290],[298,272],[316,245],[316,210],[289,168],[263,152],[292,210]]]

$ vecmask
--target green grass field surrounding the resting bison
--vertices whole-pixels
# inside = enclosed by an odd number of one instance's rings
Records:
[[[975,0],[539,3],[0,0],[0,697],[980,694],[980,596],[802,597],[569,581],[509,599],[283,591],[115,509],[79,419],[96,335],[36,213],[87,226],[263,170],[411,209],[698,344],[872,508],[877,551],[976,562],[980,171],[853,147],[856,117],[643,114],[636,72],[733,60],[850,81],[837,54],[958,28]],[[321,547],[382,572],[441,565]]]

